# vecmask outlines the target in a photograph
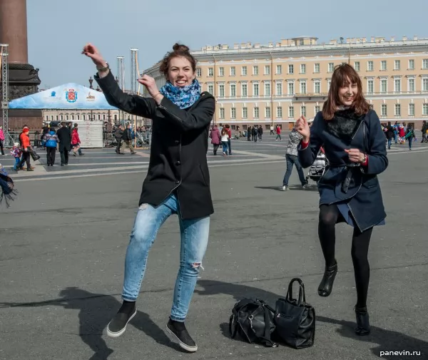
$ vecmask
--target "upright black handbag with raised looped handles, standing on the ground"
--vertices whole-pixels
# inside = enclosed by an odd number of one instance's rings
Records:
[[[298,299],[292,298],[294,282],[299,284]],[[288,285],[287,297],[277,299],[274,321],[278,341],[295,349],[303,349],[314,344],[315,309],[306,303],[305,285],[301,279],[292,279]]]

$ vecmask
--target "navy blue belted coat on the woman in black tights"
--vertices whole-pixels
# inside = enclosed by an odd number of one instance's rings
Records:
[[[382,222],[387,215],[377,175],[387,168],[388,159],[385,136],[374,110],[362,116],[343,110],[329,121],[324,120],[322,112],[317,113],[310,128],[309,146],[303,150],[299,147],[303,168],[312,165],[321,146],[329,165],[318,182],[320,205],[347,203],[360,231]],[[351,163],[345,152],[350,148],[366,153],[368,165]]]

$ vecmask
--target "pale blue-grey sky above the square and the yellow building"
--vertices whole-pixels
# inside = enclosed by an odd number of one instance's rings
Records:
[[[281,38],[402,36],[428,38],[428,0],[27,0],[29,61],[40,69],[41,86],[88,85],[95,69],[81,55],[98,46],[116,73],[130,48],[139,49],[140,70],[180,41],[191,49],[218,43],[268,43]]]

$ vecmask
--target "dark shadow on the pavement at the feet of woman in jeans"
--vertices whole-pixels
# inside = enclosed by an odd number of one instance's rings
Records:
[[[67,287],[61,290],[59,299],[45,302],[29,303],[0,303],[0,307],[49,307],[61,306],[64,309],[78,310],[78,319],[80,323],[78,335],[82,341],[87,344],[94,352],[89,360],[106,360],[113,353],[103,339],[103,331],[114,314],[121,307],[121,302],[106,294],[93,294],[77,287]],[[166,323],[165,323],[166,324]],[[148,314],[137,311],[129,325],[143,331],[158,344],[168,346],[176,351],[185,352],[183,349],[170,341],[157,324],[155,324]],[[125,336],[125,335],[122,335]]]

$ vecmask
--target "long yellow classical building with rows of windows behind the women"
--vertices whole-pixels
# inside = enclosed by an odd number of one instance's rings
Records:
[[[420,128],[428,120],[428,38],[340,38],[329,43],[300,36],[277,43],[219,44],[192,51],[203,91],[215,96],[213,123],[292,126],[322,109],[332,72],[350,63],[382,123],[404,121]],[[158,86],[160,63],[144,73]]]

